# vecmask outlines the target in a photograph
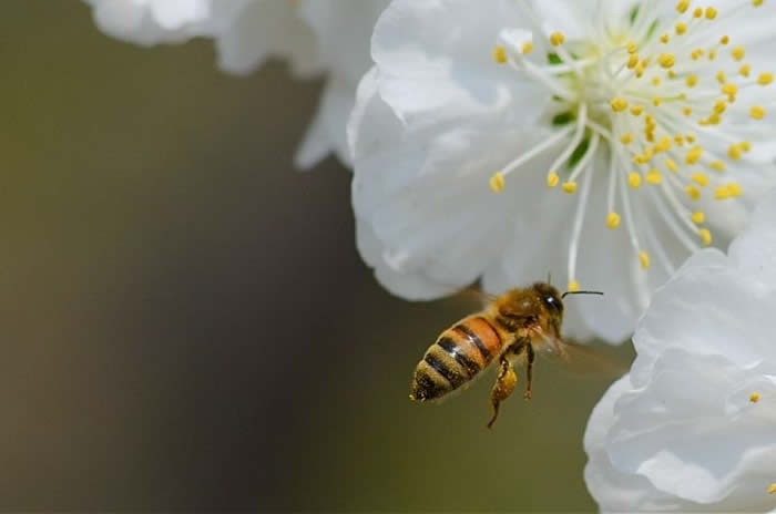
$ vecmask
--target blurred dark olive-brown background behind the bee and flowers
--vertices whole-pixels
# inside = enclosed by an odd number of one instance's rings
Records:
[[[0,510],[595,508],[582,435],[613,377],[540,361],[492,432],[491,378],[408,401],[471,305],[390,297],[349,173],[293,169],[320,81],[135,48],[75,0],[3,14]]]

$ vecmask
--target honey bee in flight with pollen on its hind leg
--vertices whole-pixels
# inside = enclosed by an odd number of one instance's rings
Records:
[[[513,363],[525,363],[525,392],[531,399],[533,361],[540,350],[565,354],[561,338],[563,299],[568,295],[603,295],[599,291],[560,294],[549,282],[511,289],[494,298],[480,312],[468,316],[445,330],[418,363],[410,387],[410,400],[440,400],[469,384],[491,362],[499,370],[490,392],[492,428],[499,405],[518,384]]]

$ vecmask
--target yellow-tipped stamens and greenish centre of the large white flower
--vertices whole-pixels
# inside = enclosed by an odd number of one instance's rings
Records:
[[[502,30],[493,59],[551,91],[553,130],[496,173],[491,188],[502,191],[510,173],[565,143],[549,169],[547,185],[571,195],[580,189],[569,255],[569,289],[578,289],[576,248],[595,173],[593,157],[600,146],[607,146],[609,214],[602,222],[616,229],[624,218],[641,267],[646,269],[651,263],[640,240],[645,235],[672,274],[674,264],[651,220],[636,214],[658,213],[681,244],[694,251],[698,243],[711,245],[713,238],[703,226],[706,214],[693,203],[704,196],[736,202],[744,193],[726,172],[745,166],[751,140],[765,137],[748,121],[766,116],[757,100],[770,101],[770,96],[756,90],[769,85],[774,75],[755,72],[745,61],[746,49],[721,28],[764,0],[741,0],[724,12],[692,8],[688,0],[680,0],[668,16],[660,10],[665,9],[663,1],[645,0],[623,19],[606,20],[605,12],[594,13],[594,27],[586,37],[572,41],[545,30],[524,0],[519,1],[533,30]],[[550,49],[547,62],[533,59],[534,45]]]

